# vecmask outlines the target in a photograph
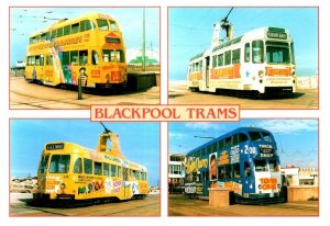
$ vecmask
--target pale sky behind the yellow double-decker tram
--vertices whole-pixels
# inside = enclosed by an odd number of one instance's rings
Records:
[[[131,53],[141,50],[143,8],[11,8],[10,42],[11,66],[23,60],[26,54],[29,36],[41,31],[56,20],[74,19],[84,13],[100,12],[113,16],[123,33],[127,59]],[[47,18],[47,19],[44,19]],[[153,56],[160,58],[160,9],[145,8],[145,46],[153,49]]]

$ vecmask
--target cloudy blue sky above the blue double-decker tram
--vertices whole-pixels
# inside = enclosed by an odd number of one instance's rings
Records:
[[[237,123],[169,123],[169,152],[187,154],[241,126],[262,127],[273,133],[282,166],[318,168],[317,120],[241,120]],[[197,137],[195,137],[197,136]]]

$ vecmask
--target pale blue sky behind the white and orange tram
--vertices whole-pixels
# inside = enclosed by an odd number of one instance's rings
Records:
[[[169,8],[169,80],[185,80],[189,59],[210,48],[213,24],[230,8]],[[298,76],[318,70],[317,8],[234,8],[228,18],[234,36],[262,26],[286,27],[295,43]]]

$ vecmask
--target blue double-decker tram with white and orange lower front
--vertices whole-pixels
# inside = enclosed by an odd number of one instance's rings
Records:
[[[237,203],[283,202],[279,163],[271,132],[240,127],[187,154],[185,193],[208,196],[210,188],[226,188]]]

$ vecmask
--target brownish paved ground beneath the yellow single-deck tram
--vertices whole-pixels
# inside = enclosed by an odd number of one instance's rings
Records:
[[[145,200],[105,203],[79,207],[37,207],[29,205],[31,194],[11,194],[10,216],[160,216],[160,194]]]

